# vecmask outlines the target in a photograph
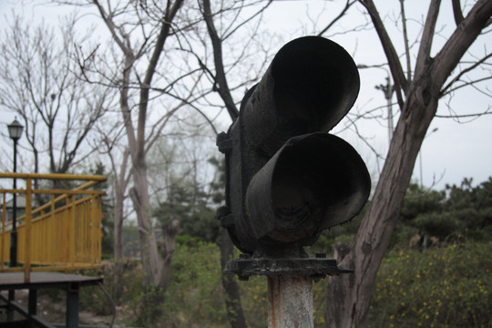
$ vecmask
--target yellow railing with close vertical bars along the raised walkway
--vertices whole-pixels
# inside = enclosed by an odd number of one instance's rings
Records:
[[[5,190],[2,194],[0,227],[0,272],[71,271],[101,266],[101,195],[89,190],[104,176],[72,174],[0,173],[0,179],[25,179],[26,189]],[[33,190],[33,179],[88,180],[74,190]],[[17,217],[17,261],[22,266],[8,267],[12,221],[5,221],[5,195],[26,195],[26,213]],[[51,200],[32,209],[33,194],[48,194]],[[56,195],[59,195],[56,197]]]

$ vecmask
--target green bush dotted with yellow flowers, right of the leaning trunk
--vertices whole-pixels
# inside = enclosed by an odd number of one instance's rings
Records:
[[[390,251],[376,280],[373,327],[489,327],[491,243]]]

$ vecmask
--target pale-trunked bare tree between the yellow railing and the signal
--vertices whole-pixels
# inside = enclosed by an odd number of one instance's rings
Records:
[[[163,95],[169,96],[175,88],[182,90],[179,81],[192,75],[190,70],[175,69],[176,63],[169,54],[174,45],[166,48],[167,44],[175,42],[169,39],[175,38],[179,29],[189,24],[178,15],[183,0],[149,4],[131,0],[117,4],[97,0],[56,2],[95,10],[109,33],[107,45],[88,51],[81,48],[77,60],[87,82],[94,87],[118,90],[119,94],[119,118],[112,116],[113,121],[106,120],[98,128],[100,145],[111,161],[115,184],[115,282],[120,280],[124,269],[122,232],[124,204],[129,196],[138,219],[144,284],[147,291],[157,289],[162,295],[169,283],[179,225],[176,221],[164,227],[165,247],[159,247],[151,217],[147,156],[169,120],[188,104],[193,94],[193,87],[185,88],[184,94],[176,91],[166,101],[159,100]],[[121,142],[122,137],[125,142]],[[122,290],[120,284],[115,285],[118,300]]]

